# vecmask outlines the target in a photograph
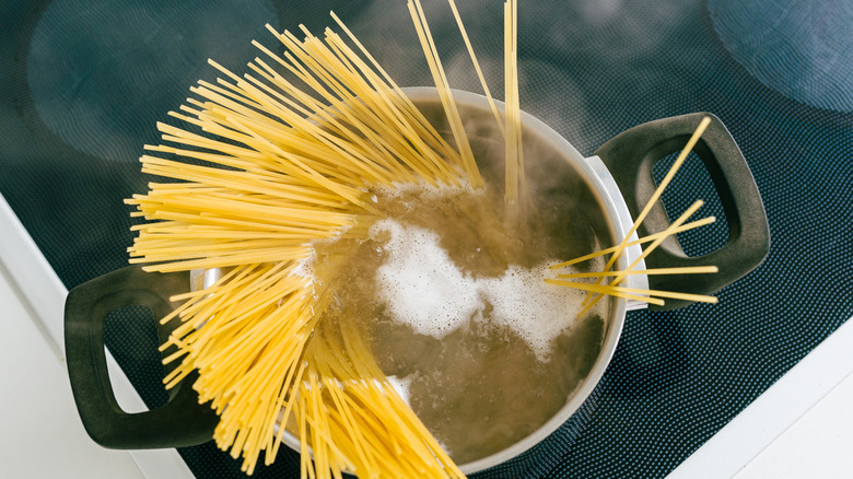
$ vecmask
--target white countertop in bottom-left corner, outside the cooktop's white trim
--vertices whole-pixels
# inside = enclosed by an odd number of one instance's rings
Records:
[[[130,454],[95,445],[77,418],[71,386],[52,341],[34,320],[9,271],[0,265],[3,334],[10,366],[0,408],[0,469],[4,477],[143,478]]]

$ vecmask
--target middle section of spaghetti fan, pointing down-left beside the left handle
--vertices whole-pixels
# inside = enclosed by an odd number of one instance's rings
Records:
[[[191,296],[173,315],[185,322],[161,347],[180,364],[164,379],[174,387],[194,370],[199,401],[220,413],[214,440],[250,471],[274,437],[276,419],[299,377],[300,359],[326,295],[312,295],[293,264],[236,267]],[[179,299],[179,297],[178,297]],[[170,320],[165,317],[163,320]]]

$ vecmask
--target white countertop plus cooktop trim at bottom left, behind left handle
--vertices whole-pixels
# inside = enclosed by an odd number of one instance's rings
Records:
[[[77,413],[66,372],[66,291],[0,196],[0,477],[192,478],[175,449],[113,451],[95,444]],[[116,399],[144,409],[107,352]]]

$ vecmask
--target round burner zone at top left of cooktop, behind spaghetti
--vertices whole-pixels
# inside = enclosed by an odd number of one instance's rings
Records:
[[[27,82],[42,121],[79,151],[135,162],[199,78],[207,58],[239,68],[277,24],[265,0],[55,0],[30,44]]]

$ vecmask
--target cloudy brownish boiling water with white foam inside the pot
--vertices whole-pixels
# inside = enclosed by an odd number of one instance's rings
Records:
[[[596,246],[589,224],[577,211],[531,210],[507,227],[493,191],[401,188],[377,199],[386,218],[366,238],[315,245],[313,273],[335,291],[326,315],[358,322],[457,463],[533,433],[600,349],[607,302],[577,318],[583,294],[542,281],[556,277],[549,265]]]

